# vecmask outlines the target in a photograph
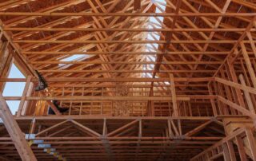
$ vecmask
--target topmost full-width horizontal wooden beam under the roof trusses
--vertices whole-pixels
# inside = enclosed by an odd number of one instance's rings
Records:
[[[254,17],[256,13],[53,13],[53,12],[0,12],[0,16],[84,16],[84,17]]]

